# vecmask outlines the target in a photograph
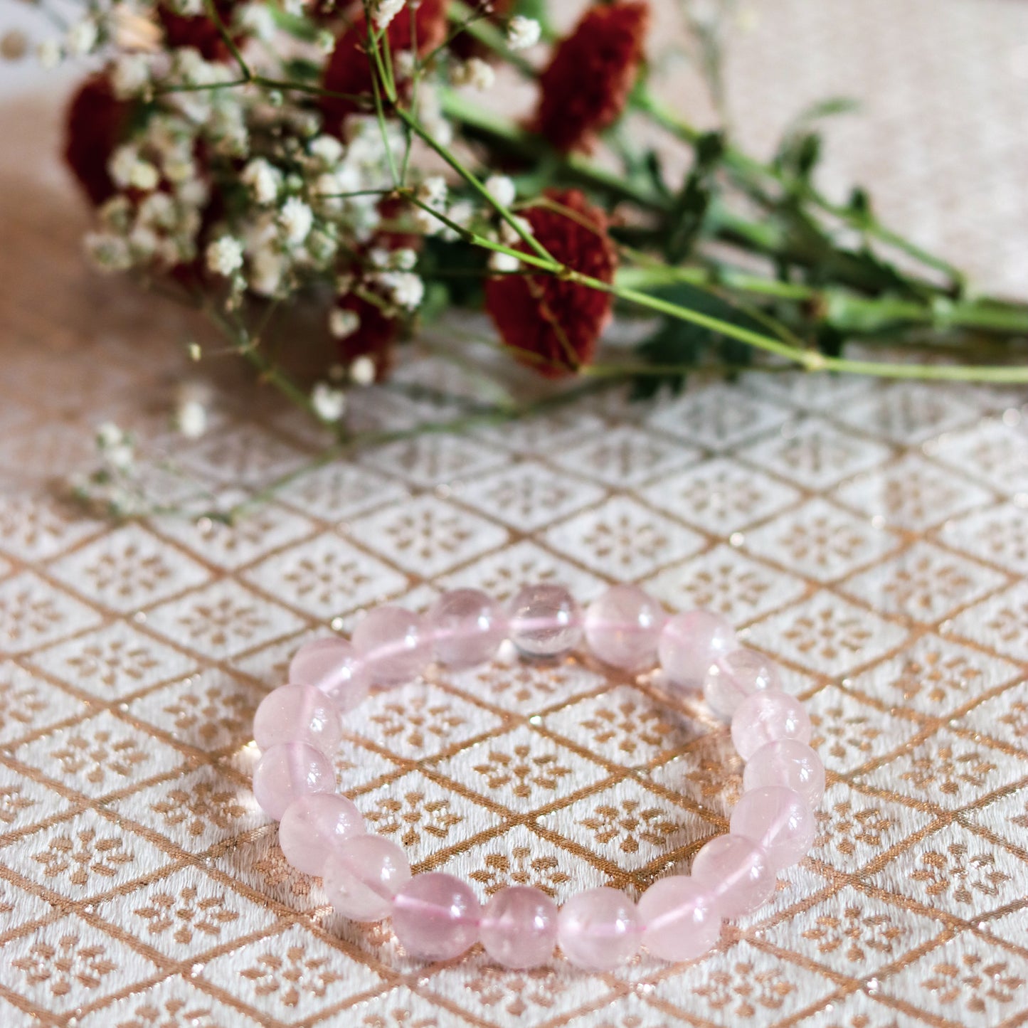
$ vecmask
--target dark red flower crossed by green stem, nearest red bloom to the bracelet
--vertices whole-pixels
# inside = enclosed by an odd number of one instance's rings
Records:
[[[577,189],[546,195],[565,210],[524,212],[536,238],[562,264],[613,282],[618,261],[603,212]],[[610,293],[552,274],[506,274],[485,286],[485,307],[504,343],[547,378],[574,374],[592,361],[612,302]]]

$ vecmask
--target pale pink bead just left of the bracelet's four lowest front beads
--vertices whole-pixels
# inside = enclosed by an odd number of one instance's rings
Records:
[[[389,839],[353,836],[332,847],[322,878],[337,914],[352,921],[380,921],[393,909],[397,891],[410,881],[410,861]]]

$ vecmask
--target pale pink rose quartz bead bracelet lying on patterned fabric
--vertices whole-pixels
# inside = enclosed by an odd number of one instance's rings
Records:
[[[342,737],[340,715],[370,685],[410,682],[432,660],[472,667],[492,659],[508,638],[526,658],[555,659],[583,634],[599,660],[625,671],[648,670],[659,658],[669,690],[702,689],[713,712],[731,721],[746,768],[729,833],[700,849],[691,875],[656,881],[637,904],[604,887],[558,910],[540,889],[509,886],[483,908],[452,875],[412,877],[403,850],[366,834],[357,807],[335,793],[330,755]],[[392,917],[397,939],[414,957],[448,960],[480,942],[499,963],[525,968],[547,961],[559,942],[572,963],[591,970],[616,966],[640,944],[666,960],[693,959],[718,941],[723,918],[756,911],[774,890],[775,874],[813,842],[824,768],[807,744],[810,720],[781,691],[774,665],[741,648],[718,615],[669,618],[635,586],[615,586],[584,617],[555,585],[522,589],[506,611],[474,589],[446,593],[424,617],[380,607],[358,624],[351,642],[331,637],[301,647],[289,681],[254,717],[263,750],[254,796],[281,821],[286,859],[323,877],[335,910],[356,921]]]

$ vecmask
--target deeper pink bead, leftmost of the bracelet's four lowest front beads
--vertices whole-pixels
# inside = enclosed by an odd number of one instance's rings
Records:
[[[471,886],[439,871],[417,875],[393,901],[393,930],[421,960],[452,960],[475,945],[482,909]]]

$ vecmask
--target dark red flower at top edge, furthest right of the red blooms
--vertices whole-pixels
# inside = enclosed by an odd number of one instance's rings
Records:
[[[645,2],[591,7],[540,78],[536,125],[558,150],[588,149],[624,110],[642,59]]]

